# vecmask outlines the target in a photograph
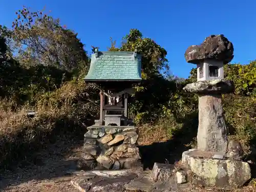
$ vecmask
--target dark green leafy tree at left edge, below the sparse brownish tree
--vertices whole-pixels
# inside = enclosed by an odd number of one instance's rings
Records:
[[[71,73],[54,66],[36,65],[24,68],[10,55],[10,31],[0,28],[0,97],[23,104],[35,99],[36,94],[53,91],[63,81],[71,78]],[[12,42],[11,42],[12,43]],[[9,44],[10,45],[10,44]],[[65,74],[65,76],[63,76]]]

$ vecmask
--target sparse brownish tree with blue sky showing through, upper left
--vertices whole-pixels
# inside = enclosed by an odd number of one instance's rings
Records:
[[[88,57],[77,33],[62,27],[60,20],[24,7],[16,12],[12,37],[20,62],[27,66],[56,66],[71,70]]]

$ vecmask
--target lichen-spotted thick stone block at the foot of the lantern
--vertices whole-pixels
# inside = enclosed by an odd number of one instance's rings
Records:
[[[205,187],[238,188],[251,178],[247,162],[198,158],[193,152],[183,152],[182,163],[197,176],[197,184]]]

